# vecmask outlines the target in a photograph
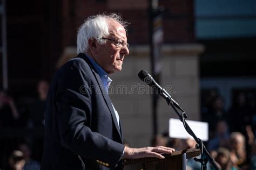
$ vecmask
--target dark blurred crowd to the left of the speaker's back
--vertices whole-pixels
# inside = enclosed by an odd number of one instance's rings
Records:
[[[20,100],[0,90],[0,169],[40,169],[49,84],[41,80],[36,89]]]

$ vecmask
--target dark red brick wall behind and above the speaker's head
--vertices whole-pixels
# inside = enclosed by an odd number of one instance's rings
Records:
[[[149,20],[145,4],[135,3],[127,5],[118,3],[113,5],[115,0],[106,1],[63,1],[63,47],[76,45],[76,33],[83,20],[99,12],[121,13],[123,18],[131,23],[129,26],[130,44],[149,43]],[[134,0],[126,1],[132,3]],[[144,2],[144,1],[143,1]],[[137,7],[136,7],[137,5]],[[165,7],[164,35],[165,43],[184,43],[194,41],[194,17],[193,1],[159,1],[159,5]],[[127,6],[131,6],[130,9]],[[118,8],[119,7],[119,8]]]

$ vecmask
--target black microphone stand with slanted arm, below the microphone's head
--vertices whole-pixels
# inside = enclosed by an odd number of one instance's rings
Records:
[[[209,161],[210,164],[211,164],[215,169],[220,170],[220,169],[221,169],[220,166],[219,166],[218,163],[212,158],[211,154],[207,151],[206,147],[205,147],[204,144],[203,144],[203,141],[202,141],[201,139],[199,139],[199,138],[196,136],[196,134],[194,134],[194,132],[192,131],[192,129],[190,128],[190,126],[187,124],[187,122],[186,122],[186,120],[185,120],[185,119],[187,118],[187,115],[186,115],[185,111],[184,111],[181,107],[179,107],[179,105],[178,105],[178,107],[177,107],[177,104],[178,104],[178,103],[176,103],[176,104],[173,103],[173,100],[172,100],[171,96],[170,96],[168,93],[166,93],[165,89],[163,89],[163,88],[162,88],[162,94],[164,94],[164,95],[161,95],[161,96],[163,96],[163,97],[165,96],[164,98],[165,98],[167,104],[170,105],[170,106],[172,107],[172,109],[176,112],[176,114],[178,115],[178,117],[179,117],[180,121],[183,123],[183,126],[184,126],[185,130],[187,131],[187,133],[190,134],[190,135],[194,138],[194,140],[196,140],[196,142],[197,142],[197,144],[198,144],[198,147],[197,147],[197,148],[200,148],[200,150],[201,150],[201,158],[200,158],[200,159],[194,158],[194,160],[197,161],[197,162],[200,162],[200,164],[201,164],[201,169],[207,169],[206,164],[207,164],[207,162]],[[180,113],[178,112],[178,110],[176,109],[176,107],[177,107],[179,110],[183,111],[183,112],[181,113],[181,115],[180,115]]]

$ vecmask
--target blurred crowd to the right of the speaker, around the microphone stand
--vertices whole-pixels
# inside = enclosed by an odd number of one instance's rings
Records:
[[[226,111],[224,98],[210,90],[201,103],[201,120],[208,123],[209,140],[204,143],[221,169],[256,169],[256,100],[252,93],[243,91],[234,96]],[[176,150],[194,148],[194,139],[170,138],[169,133],[152,139],[153,146],[168,146]],[[198,157],[200,158],[200,157]],[[187,160],[187,169],[199,170],[200,163]],[[207,169],[213,169],[207,164]]]

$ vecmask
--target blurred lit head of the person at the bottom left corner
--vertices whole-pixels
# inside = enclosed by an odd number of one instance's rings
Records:
[[[8,170],[23,170],[24,165],[24,154],[18,150],[12,151],[8,159]]]

